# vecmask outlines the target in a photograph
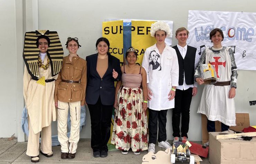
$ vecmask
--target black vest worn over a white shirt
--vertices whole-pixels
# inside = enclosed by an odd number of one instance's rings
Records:
[[[195,57],[197,49],[195,47],[188,46],[187,54],[183,59],[180,54],[179,48],[177,46],[173,46],[172,48],[176,50],[179,62],[179,85],[183,85],[184,83],[184,73],[186,84],[194,84]]]

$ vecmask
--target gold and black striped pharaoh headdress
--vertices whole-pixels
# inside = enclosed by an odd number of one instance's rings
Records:
[[[23,59],[25,61],[28,73],[32,79],[38,79],[38,55],[39,49],[36,46],[36,39],[40,35],[45,35],[50,39],[50,45],[47,50],[47,56],[50,60],[51,75],[59,73],[63,61],[63,48],[61,46],[58,33],[49,30],[36,30],[26,32],[23,49]]]

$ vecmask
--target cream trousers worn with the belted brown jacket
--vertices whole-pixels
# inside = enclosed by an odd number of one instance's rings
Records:
[[[70,110],[71,129],[70,137],[67,137],[67,117]],[[79,141],[81,102],[60,102],[58,101],[58,140],[61,145],[61,152],[76,153]]]

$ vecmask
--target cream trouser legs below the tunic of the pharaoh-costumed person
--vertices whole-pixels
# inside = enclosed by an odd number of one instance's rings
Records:
[[[28,145],[27,152],[28,156],[34,157],[39,155],[39,137],[40,132],[34,134],[29,120],[29,134],[28,134]],[[51,125],[43,127],[41,131],[41,151],[45,154],[52,153],[51,150]]]

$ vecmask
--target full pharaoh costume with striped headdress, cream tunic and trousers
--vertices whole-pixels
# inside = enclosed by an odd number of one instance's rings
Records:
[[[50,39],[47,54],[41,54],[36,46],[40,35]],[[39,136],[43,154],[52,154],[51,121],[56,120],[54,104],[55,79],[61,69],[63,48],[56,31],[38,30],[26,32],[23,50],[25,61],[23,95],[28,110],[29,136],[26,154],[39,155]]]

